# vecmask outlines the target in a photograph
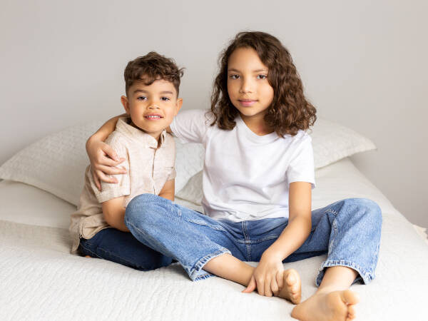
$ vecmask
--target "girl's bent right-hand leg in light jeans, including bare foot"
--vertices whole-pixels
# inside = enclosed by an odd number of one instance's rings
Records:
[[[382,213],[371,200],[351,198],[312,211],[312,232],[287,262],[327,253],[317,292],[292,310],[299,320],[352,320],[358,297],[352,282],[373,280]]]

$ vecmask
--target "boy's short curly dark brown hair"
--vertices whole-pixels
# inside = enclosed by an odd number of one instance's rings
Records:
[[[173,59],[166,58],[155,51],[151,51],[146,56],[135,58],[129,61],[125,68],[125,91],[135,81],[143,81],[146,86],[150,86],[153,81],[163,79],[173,83],[175,90],[180,87],[180,77],[183,76],[183,68],[178,68]]]

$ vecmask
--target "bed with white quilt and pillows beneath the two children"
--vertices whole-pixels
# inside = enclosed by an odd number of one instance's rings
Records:
[[[86,165],[84,139],[99,123],[55,133],[0,167],[0,320],[293,320],[290,302],[243,294],[243,286],[220,277],[191,282],[178,263],[141,272],[70,254],[69,215],[83,182],[76,170]],[[312,142],[312,208],[349,197],[382,208],[377,277],[368,286],[352,285],[361,298],[357,320],[428,320],[427,241],[348,157],[374,146],[327,121],[315,126]],[[176,202],[194,209],[200,208],[201,158],[200,146],[178,143]],[[303,300],[315,291],[324,259],[285,264],[300,273]]]

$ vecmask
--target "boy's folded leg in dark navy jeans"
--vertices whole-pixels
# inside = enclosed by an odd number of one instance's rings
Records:
[[[173,261],[140,243],[131,233],[116,228],[105,228],[89,240],[82,238],[78,250],[82,255],[103,258],[144,271],[170,265]]]

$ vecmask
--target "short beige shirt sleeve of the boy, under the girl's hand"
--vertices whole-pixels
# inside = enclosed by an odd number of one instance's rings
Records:
[[[106,202],[107,200],[111,200],[113,198],[119,198],[121,196],[129,195],[131,193],[131,185],[129,179],[129,158],[126,144],[124,143],[123,139],[116,136],[113,136],[113,138],[109,137],[106,143],[108,143],[108,145],[110,145],[111,148],[116,151],[119,158],[125,158],[125,161],[123,161],[123,163],[120,163],[116,167],[124,167],[126,169],[126,174],[108,175],[109,177],[116,178],[116,180],[118,180],[118,183],[101,182],[101,192],[98,190],[98,188],[96,188],[95,183],[93,183],[93,179],[91,179],[93,193],[95,193],[96,199],[99,203]]]

